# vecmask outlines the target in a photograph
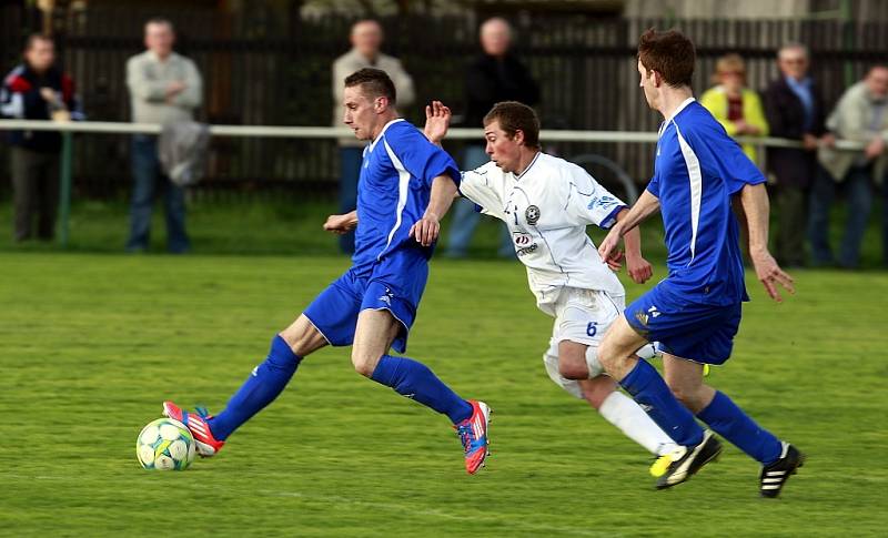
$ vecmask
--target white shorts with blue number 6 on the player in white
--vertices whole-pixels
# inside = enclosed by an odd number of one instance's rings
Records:
[[[554,306],[555,326],[552,329],[552,339],[543,363],[546,373],[556,385],[583,398],[583,389],[575,379],[563,377],[558,369],[558,344],[563,341],[576,342],[588,346],[586,349],[586,366],[589,379],[604,374],[604,367],[598,362],[598,344],[604,334],[626,307],[626,297],[610,295],[607,292],[593,290],[578,290],[565,287],[558,295]],[[647,344],[636,352],[643,358],[658,355],[654,344]]]

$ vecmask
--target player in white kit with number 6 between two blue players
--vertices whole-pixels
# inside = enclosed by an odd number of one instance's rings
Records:
[[[426,108],[425,134],[432,142],[444,138],[450,115],[437,101]],[[626,292],[612,271],[619,268],[620,256],[602,261],[586,226],[609,227],[626,213],[626,204],[581,166],[539,150],[539,121],[529,106],[497,103],[484,118],[484,130],[491,162],[462,173],[460,194],[506,223],[537,306],[555,318],[543,356],[546,372],[652,454],[669,454],[673,440],[617,390],[597,358],[598,343],[623,312]],[[653,272],[642,257],[637,231],[624,242],[630,277],[647,281]],[[639,353],[649,357],[653,347]]]

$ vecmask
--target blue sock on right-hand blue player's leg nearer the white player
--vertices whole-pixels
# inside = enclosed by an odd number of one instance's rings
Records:
[[[703,440],[703,428],[694,415],[675,398],[663,377],[646,361],[638,359],[619,385],[674,441],[693,446]]]

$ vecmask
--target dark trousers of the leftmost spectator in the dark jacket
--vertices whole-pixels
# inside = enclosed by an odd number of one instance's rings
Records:
[[[14,237],[52,240],[59,207],[59,154],[11,148],[10,165],[14,206]]]

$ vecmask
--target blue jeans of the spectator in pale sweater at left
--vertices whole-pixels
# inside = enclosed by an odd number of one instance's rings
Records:
[[[188,252],[191,243],[185,233],[185,191],[163,174],[158,160],[157,136],[135,134],[132,138],[132,204],[130,238],[127,250],[145,251],[151,238],[151,210],[154,194],[163,191],[167,214],[167,248],[175,254]]]

